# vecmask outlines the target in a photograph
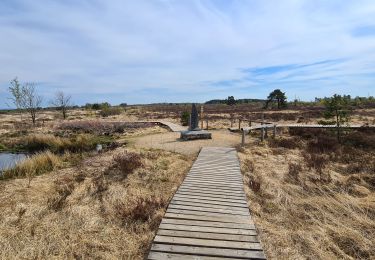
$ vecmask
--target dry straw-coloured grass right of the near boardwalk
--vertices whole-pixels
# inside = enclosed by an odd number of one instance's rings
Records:
[[[309,165],[300,149],[281,149],[252,143],[239,153],[268,259],[374,259],[375,172],[349,174],[351,163],[334,157]]]

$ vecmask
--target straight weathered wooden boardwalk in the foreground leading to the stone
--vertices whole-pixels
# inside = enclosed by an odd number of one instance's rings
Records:
[[[202,148],[168,206],[148,259],[265,259],[235,149]]]

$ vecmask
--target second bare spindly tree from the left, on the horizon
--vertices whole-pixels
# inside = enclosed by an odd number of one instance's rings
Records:
[[[33,125],[36,123],[36,114],[42,101],[43,98],[36,93],[34,83],[25,83],[21,87],[21,107],[30,114]]]

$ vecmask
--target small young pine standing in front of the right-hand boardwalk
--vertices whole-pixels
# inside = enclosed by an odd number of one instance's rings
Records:
[[[333,95],[331,98],[325,98],[324,101],[326,119],[334,119],[336,124],[337,141],[341,143],[341,125],[349,122],[350,96]]]

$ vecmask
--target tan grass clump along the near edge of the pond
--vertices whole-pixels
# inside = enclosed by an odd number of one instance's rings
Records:
[[[51,152],[38,153],[18,163],[14,168],[5,170],[2,178],[33,177],[50,172],[61,165],[61,158]]]

